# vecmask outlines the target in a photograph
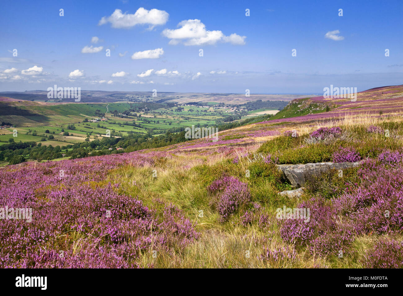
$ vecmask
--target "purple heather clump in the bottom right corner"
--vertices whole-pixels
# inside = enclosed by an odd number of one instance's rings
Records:
[[[403,268],[403,242],[381,238],[364,258],[364,268]]]

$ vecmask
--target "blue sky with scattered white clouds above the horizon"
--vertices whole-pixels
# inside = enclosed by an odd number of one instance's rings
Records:
[[[2,6],[0,91],[57,84],[320,94],[331,84],[358,91],[403,84],[401,0],[13,0]]]

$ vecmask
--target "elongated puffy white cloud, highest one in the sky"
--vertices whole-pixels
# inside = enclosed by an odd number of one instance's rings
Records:
[[[143,7],[137,9],[135,14],[122,13],[122,10],[116,9],[110,17],[102,17],[98,25],[111,23],[112,28],[131,28],[135,25],[150,25],[150,29],[156,25],[164,25],[168,21],[169,14],[164,10],[151,9]]]

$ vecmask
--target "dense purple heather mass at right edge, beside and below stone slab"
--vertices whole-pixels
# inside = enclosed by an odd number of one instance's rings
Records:
[[[361,184],[333,200],[339,213],[360,234],[399,233],[403,230],[403,167],[367,161],[358,170]]]

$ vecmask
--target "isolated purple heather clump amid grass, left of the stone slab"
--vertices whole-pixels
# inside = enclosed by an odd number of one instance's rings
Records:
[[[215,194],[212,205],[220,214],[221,221],[228,220],[233,213],[247,205],[251,199],[247,184],[232,176],[214,180],[207,189]]]

